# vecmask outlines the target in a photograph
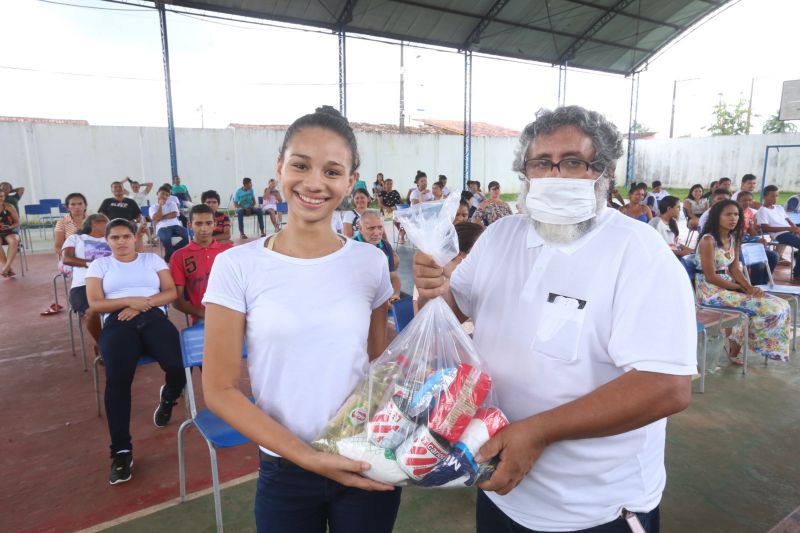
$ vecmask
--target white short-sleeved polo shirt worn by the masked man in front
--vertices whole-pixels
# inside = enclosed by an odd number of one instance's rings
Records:
[[[475,323],[478,353],[511,421],[632,369],[696,372],[686,272],[656,232],[613,209],[601,212],[589,234],[559,247],[545,244],[524,215],[502,218],[478,239],[450,286]],[[665,428],[662,419],[611,437],[557,442],[517,488],[487,495],[539,531],[597,526],[623,507],[650,511],[666,482]]]

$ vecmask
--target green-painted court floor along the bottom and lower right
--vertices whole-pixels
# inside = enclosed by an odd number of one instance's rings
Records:
[[[408,287],[413,250],[398,252]],[[742,376],[722,353],[720,338],[711,337],[706,392],[668,424],[664,533],[767,531],[800,504],[800,357],[768,366],[753,357]],[[255,481],[223,491],[229,531],[255,531],[254,494]],[[471,489],[405,489],[395,531],[474,531],[474,502]],[[213,502],[204,496],[111,530],[213,531]]]

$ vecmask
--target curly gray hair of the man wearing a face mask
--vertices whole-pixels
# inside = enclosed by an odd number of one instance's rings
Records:
[[[525,126],[519,136],[513,170],[525,173],[525,156],[537,135],[548,135],[563,126],[575,126],[592,139],[596,152],[593,161],[598,170],[605,169],[622,157],[622,135],[617,127],[597,111],[570,105],[553,111],[540,109],[536,112],[536,120]]]

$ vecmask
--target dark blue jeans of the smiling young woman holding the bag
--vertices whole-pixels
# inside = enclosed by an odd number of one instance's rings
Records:
[[[391,533],[399,487],[391,492],[345,487],[283,460],[265,461],[260,454],[258,533]]]

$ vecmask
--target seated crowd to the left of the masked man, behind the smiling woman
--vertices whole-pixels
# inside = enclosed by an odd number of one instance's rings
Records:
[[[427,176],[418,172],[417,187],[409,191],[407,202],[413,205],[447,197],[450,194],[447,178],[443,175],[439,178],[428,190]],[[383,179],[382,174],[378,174],[372,190],[377,209],[370,208],[374,200],[363,182],[356,185],[360,186],[347,199],[352,209],[335,211],[332,227],[344,238],[369,243],[385,254],[392,287],[389,304],[410,297],[402,291],[397,273],[400,258],[384,227],[386,217],[391,220],[398,206],[402,207],[402,199],[393,189],[393,181]],[[130,177],[114,181],[111,196],[92,214],[86,197],[79,192],[71,193],[64,199],[67,213],[54,227],[58,267],[65,276],[71,275],[71,311],[85,323],[94,340],[95,354],[105,366],[111,484],[131,477],[131,385],[139,357],[142,354],[153,357],[165,373],[153,413],[155,426],[165,427],[186,383],[179,335],[167,316],[167,307],[185,313],[193,324],[201,323],[211,267],[221,252],[233,247],[231,218],[220,207],[219,193],[204,191],[200,203],[193,204],[188,188],[175,176],[172,184],[157,188],[151,203],[153,188],[152,182]],[[451,270],[466,256],[485,225],[511,214],[508,204],[499,198],[497,182],[489,184],[488,198],[480,193],[479,182],[471,182],[470,188],[473,192],[462,195],[454,220],[460,253],[448,265]],[[7,259],[0,256],[4,276],[14,275],[10,265],[16,252],[14,243],[19,241],[15,231],[19,216],[8,195],[18,200],[23,193],[22,188],[6,193],[0,186],[0,237],[9,248]],[[261,205],[253,192],[251,178],[242,180],[231,200],[240,239],[247,239],[244,218],[248,216],[256,217],[262,237],[266,236],[264,214],[269,215],[275,233],[281,230],[283,220],[278,204],[283,197],[277,180],[268,181]],[[396,242],[403,244],[402,226],[394,223],[399,231]],[[145,241],[149,241],[149,246],[160,243],[163,259],[158,253],[146,251]]]

